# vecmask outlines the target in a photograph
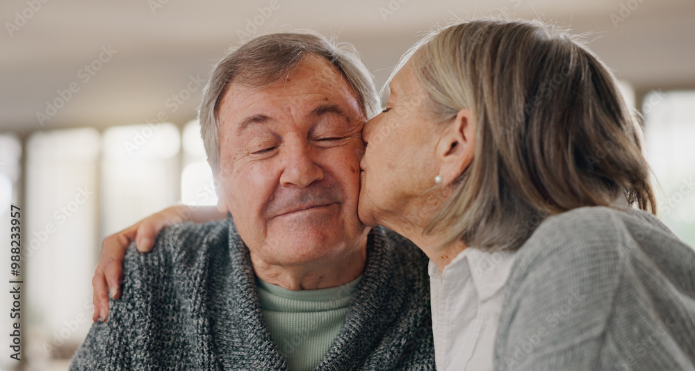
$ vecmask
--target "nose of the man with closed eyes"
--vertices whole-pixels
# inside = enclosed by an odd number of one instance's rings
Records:
[[[281,186],[304,188],[314,181],[323,179],[323,170],[316,160],[320,156],[316,149],[304,140],[285,145],[285,166],[280,176]]]

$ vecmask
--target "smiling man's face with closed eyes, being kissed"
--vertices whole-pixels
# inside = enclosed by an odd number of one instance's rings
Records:
[[[365,120],[341,72],[307,56],[267,88],[233,81],[218,113],[219,207],[253,256],[320,265],[364,248],[357,201]]]

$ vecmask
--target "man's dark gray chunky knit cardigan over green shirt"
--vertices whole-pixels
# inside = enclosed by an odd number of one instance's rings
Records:
[[[427,257],[373,229],[338,338],[316,370],[434,370]],[[231,219],[170,226],[126,254],[122,297],[92,325],[71,370],[286,370],[262,318]]]

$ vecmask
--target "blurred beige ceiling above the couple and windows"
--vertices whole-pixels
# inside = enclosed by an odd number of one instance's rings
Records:
[[[589,48],[638,94],[695,88],[692,0],[3,1],[0,131],[103,129],[158,115],[185,124],[199,104],[197,81],[254,28],[337,36],[381,85],[432,26],[500,13],[587,33]]]

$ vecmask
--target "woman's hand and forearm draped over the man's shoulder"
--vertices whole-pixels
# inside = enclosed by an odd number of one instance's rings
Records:
[[[94,314],[92,320],[108,318],[108,295],[118,299],[121,296],[123,280],[123,259],[131,242],[136,242],[139,252],[150,252],[159,231],[165,226],[180,222],[208,222],[223,219],[224,213],[217,211],[215,206],[171,206],[163,211],[149,215],[140,222],[104,238],[101,243],[101,258],[92,278],[92,302]],[[107,290],[108,288],[108,290]]]

